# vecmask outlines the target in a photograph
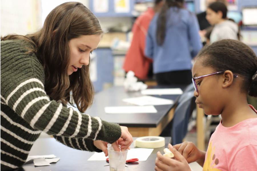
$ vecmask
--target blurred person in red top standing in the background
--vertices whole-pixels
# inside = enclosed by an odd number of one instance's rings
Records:
[[[163,3],[163,0],[155,0],[154,7],[148,8],[140,15],[132,27],[133,39],[126,54],[123,69],[126,72],[133,71],[139,79],[152,77],[152,59],[144,55],[145,38],[154,14],[160,11]]]

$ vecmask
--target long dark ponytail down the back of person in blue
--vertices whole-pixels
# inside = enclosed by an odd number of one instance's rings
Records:
[[[165,39],[166,33],[166,19],[167,19],[167,10],[170,7],[177,7],[178,9],[183,8],[184,0],[166,0],[160,14],[157,19],[157,29],[156,29],[156,41],[158,45],[162,45]]]

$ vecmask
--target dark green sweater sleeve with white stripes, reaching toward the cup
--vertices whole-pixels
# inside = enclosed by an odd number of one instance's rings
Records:
[[[113,143],[121,128],[50,100],[44,90],[44,71],[34,53],[25,54],[20,43],[1,42],[1,104],[8,105],[32,128],[54,135],[58,141],[81,150],[93,140]]]

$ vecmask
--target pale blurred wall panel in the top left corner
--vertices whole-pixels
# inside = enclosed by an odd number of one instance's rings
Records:
[[[26,35],[41,27],[41,1],[1,0],[1,36]]]

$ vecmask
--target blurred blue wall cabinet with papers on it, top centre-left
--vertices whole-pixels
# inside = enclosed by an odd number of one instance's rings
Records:
[[[120,0],[121,3],[124,3],[124,0]],[[98,1],[99,2],[99,1]],[[115,12],[115,0],[108,0],[108,12],[98,12],[95,11],[96,7],[94,5],[97,4],[95,0],[90,0],[90,9],[93,12],[93,14],[97,17],[132,17],[132,11],[134,9],[134,0],[129,0],[129,11],[124,13],[116,13]]]

